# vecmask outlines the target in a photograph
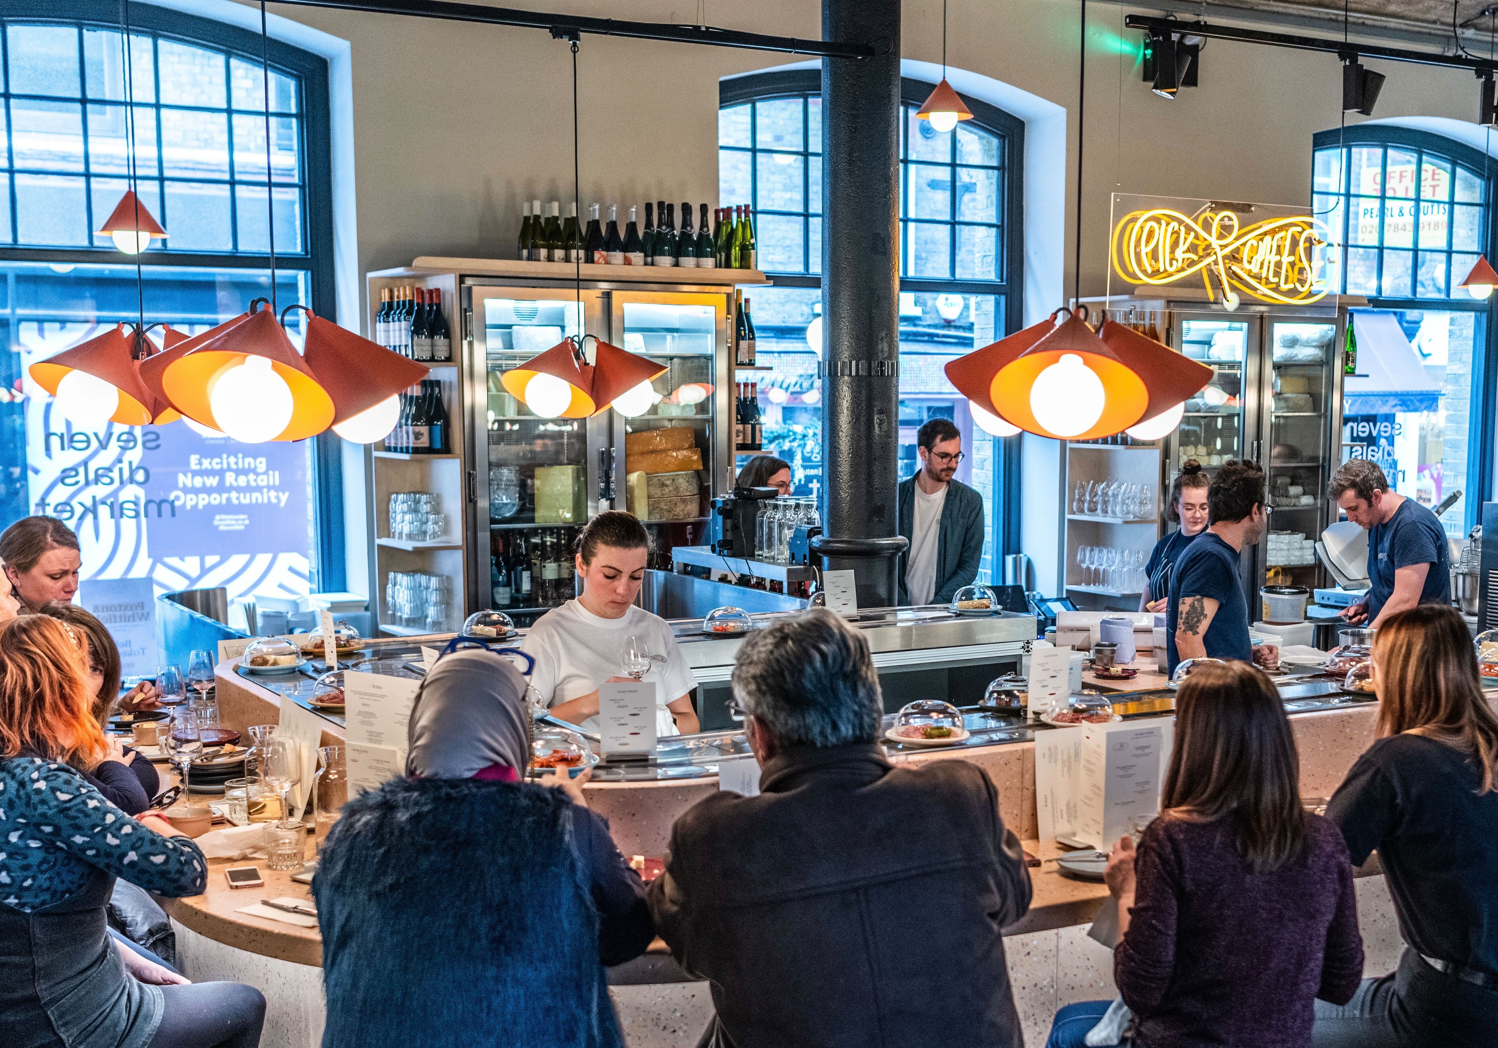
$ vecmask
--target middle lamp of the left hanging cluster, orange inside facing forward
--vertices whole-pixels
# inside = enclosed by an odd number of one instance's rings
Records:
[[[168,363],[162,390],[187,418],[246,444],[300,441],[333,424],[333,397],[268,306]]]

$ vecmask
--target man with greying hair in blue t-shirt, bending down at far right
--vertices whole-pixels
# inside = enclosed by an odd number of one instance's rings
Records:
[[[1369,459],[1350,459],[1332,475],[1332,498],[1368,531],[1368,598],[1342,615],[1377,630],[1395,612],[1452,603],[1452,550],[1434,513],[1390,490]]]

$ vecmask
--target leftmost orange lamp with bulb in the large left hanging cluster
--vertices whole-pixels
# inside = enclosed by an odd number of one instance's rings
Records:
[[[72,349],[31,364],[31,379],[78,424],[145,426],[153,397],[130,355],[133,331],[117,324]]]

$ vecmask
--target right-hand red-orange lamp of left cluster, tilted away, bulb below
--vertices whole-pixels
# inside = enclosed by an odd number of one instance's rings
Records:
[[[401,391],[424,379],[431,369],[346,331],[306,306],[286,309],[300,309],[307,315],[303,360],[333,397],[333,432],[354,444],[385,439],[400,421]]]

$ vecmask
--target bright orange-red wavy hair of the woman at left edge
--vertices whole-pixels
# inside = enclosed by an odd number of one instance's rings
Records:
[[[108,753],[93,718],[82,634],[46,615],[0,625],[0,757],[22,754],[90,771]]]

